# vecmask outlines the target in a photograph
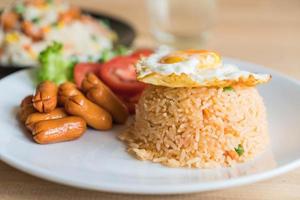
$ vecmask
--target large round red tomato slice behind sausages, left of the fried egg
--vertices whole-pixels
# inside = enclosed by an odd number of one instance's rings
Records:
[[[101,80],[121,96],[133,96],[142,92],[146,84],[136,80],[134,65],[137,58],[118,56],[104,63],[99,70]]]

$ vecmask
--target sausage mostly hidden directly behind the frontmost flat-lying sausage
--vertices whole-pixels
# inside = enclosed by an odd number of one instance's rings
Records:
[[[35,113],[30,114],[27,117],[25,125],[29,130],[32,130],[34,124],[36,124],[37,122],[49,120],[49,119],[59,119],[59,118],[63,118],[66,116],[67,116],[67,113],[65,112],[65,110],[63,108],[55,108],[54,110],[52,110],[49,113],[35,112]]]

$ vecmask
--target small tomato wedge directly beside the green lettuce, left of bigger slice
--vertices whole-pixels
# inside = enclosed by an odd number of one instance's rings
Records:
[[[78,88],[81,88],[81,82],[83,81],[85,75],[89,72],[98,74],[99,69],[102,64],[99,63],[78,63],[74,67],[74,81]]]

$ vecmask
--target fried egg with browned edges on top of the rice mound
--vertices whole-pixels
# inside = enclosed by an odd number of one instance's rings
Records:
[[[158,51],[141,58],[136,70],[139,81],[165,87],[255,86],[271,79],[270,74],[223,64],[216,52],[207,50]]]

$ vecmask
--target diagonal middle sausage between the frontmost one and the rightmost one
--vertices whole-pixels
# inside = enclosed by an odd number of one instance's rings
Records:
[[[65,110],[70,115],[82,117],[94,129],[108,130],[112,127],[111,115],[83,95],[70,97],[65,103]]]

